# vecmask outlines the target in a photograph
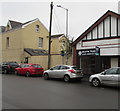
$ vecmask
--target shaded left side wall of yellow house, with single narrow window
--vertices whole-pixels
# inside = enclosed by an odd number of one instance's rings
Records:
[[[9,37],[9,47],[6,39]],[[2,34],[2,61],[17,61],[20,63],[23,54],[22,29],[11,30]]]

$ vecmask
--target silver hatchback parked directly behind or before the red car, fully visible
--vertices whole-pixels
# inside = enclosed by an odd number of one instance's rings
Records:
[[[71,79],[83,78],[83,73],[76,66],[59,65],[44,71],[44,79],[49,78],[63,78],[65,82],[69,82]]]

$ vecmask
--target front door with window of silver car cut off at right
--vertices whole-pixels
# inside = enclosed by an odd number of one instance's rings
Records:
[[[103,84],[117,84],[118,75],[117,68],[110,68],[106,70],[103,74],[101,74],[101,80]]]

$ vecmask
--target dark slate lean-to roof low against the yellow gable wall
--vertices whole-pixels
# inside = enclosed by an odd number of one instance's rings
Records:
[[[31,56],[48,55],[47,51],[44,49],[25,48],[24,51],[27,52]]]

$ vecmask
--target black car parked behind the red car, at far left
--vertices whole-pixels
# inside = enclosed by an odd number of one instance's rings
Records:
[[[1,66],[2,66],[2,72],[4,74],[14,73],[15,68],[19,67],[18,63],[14,61],[3,62]]]

